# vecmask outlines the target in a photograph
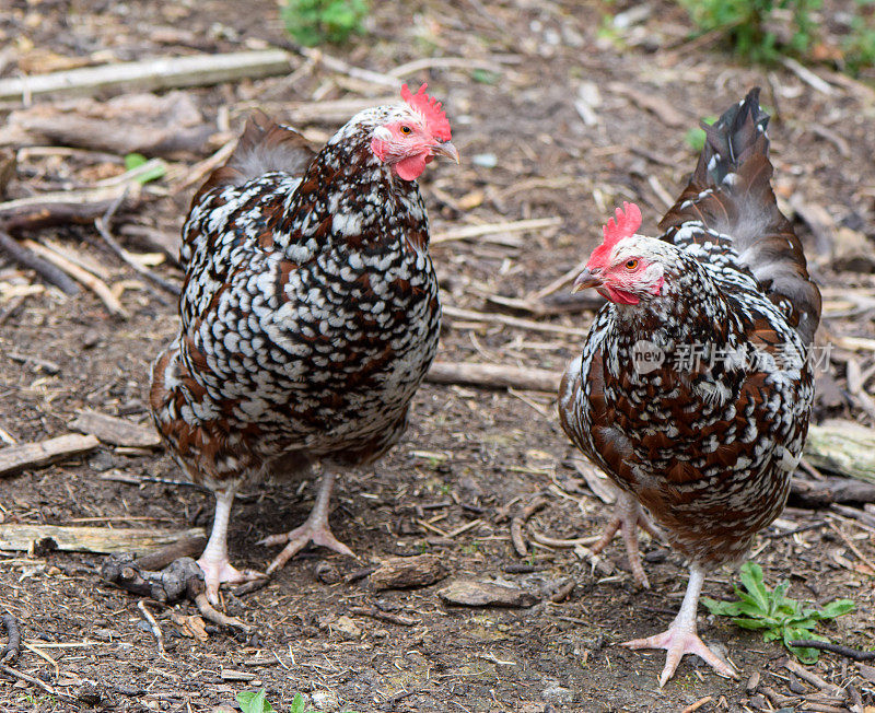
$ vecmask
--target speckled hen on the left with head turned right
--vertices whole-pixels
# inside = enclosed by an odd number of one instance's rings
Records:
[[[357,114],[314,155],[301,135],[253,117],[228,163],[195,196],[183,229],[182,328],[152,367],[150,406],[188,477],[215,493],[198,563],[215,601],[240,572],[226,531],[241,483],[320,461],[310,518],[262,540],[346,554],[328,527],[338,467],[400,437],[438,347],[441,306],[417,178],[458,162],[441,104]]]

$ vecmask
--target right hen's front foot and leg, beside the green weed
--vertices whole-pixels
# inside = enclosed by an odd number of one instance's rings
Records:
[[[738,678],[738,675],[725,661],[711,651],[704,642],[699,639],[696,624],[696,612],[699,607],[699,595],[702,592],[704,572],[698,566],[690,568],[690,581],[687,585],[687,593],[684,595],[684,604],[666,631],[648,636],[646,639],[633,639],[620,644],[628,648],[665,648],[665,667],[660,675],[660,688],[665,686],[669,678],[675,675],[677,666],[685,654],[696,654],[714,669],[714,671],[726,678]]]

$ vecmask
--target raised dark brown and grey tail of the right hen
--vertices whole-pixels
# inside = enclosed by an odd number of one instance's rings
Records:
[[[728,238],[769,299],[784,307],[806,344],[820,320],[820,291],[808,277],[805,254],[771,187],[769,116],[752,89],[712,126],[689,185],[665,214],[664,239],[685,224]],[[707,235],[707,234],[703,234]]]

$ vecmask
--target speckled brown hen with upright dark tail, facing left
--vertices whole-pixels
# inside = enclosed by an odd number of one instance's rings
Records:
[[[783,509],[812,409],[820,293],[775,204],[758,95],[704,127],[663,235],[635,234],[641,213],[625,204],[575,281],[608,300],[559,407],[565,433],[620,489],[595,549],[621,527],[646,586],[637,528],[654,529],[652,518],[690,562],[669,629],[626,644],[667,651],[661,686],[688,653],[735,676],[697,633],[704,573],[742,558]]]

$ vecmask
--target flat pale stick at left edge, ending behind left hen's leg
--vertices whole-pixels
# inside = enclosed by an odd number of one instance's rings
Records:
[[[52,549],[65,552],[114,554],[144,552],[182,538],[202,537],[203,529],[69,527],[63,525],[0,525],[0,550],[26,552],[34,543],[50,541]]]

